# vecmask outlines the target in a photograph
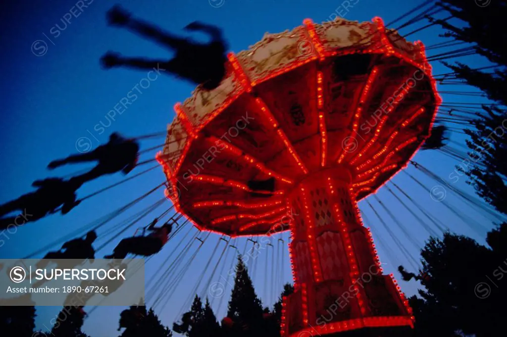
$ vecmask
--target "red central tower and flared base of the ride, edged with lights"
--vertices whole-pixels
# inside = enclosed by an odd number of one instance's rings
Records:
[[[412,309],[391,275],[382,275],[345,168],[319,171],[289,197],[295,291],[283,298],[281,335],[407,335]]]

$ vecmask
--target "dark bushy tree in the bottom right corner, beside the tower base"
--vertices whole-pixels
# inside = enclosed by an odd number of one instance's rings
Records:
[[[500,235],[504,227],[490,232],[488,241]],[[507,279],[507,256],[500,256],[465,236],[430,238],[421,251],[425,289],[409,300],[416,336],[498,335],[507,316],[507,287],[500,286]]]

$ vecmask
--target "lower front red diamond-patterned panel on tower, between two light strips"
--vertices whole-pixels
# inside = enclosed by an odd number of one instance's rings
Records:
[[[340,234],[325,232],[316,241],[323,280],[343,280],[348,265]]]

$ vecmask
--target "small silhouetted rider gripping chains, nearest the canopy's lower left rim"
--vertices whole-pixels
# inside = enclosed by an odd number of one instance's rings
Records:
[[[146,228],[151,233],[148,236],[134,236],[123,239],[113,250],[113,254],[104,258],[124,259],[127,254],[132,253],[142,256],[150,256],[158,253],[169,240],[172,224],[166,222],[162,227],[155,228],[158,219],[153,220]]]

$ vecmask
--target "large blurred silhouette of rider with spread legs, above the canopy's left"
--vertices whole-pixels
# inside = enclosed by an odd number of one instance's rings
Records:
[[[203,44],[179,38],[155,25],[133,19],[130,13],[119,6],[115,6],[107,12],[107,19],[111,25],[125,27],[174,50],[175,56],[170,60],[153,60],[125,58],[118,53],[108,52],[101,58],[105,68],[130,66],[138,69],[152,69],[160,67],[197,85],[201,84],[206,90],[218,87],[225,76],[227,43],[218,27],[195,21],[184,28],[189,31],[207,33],[211,41]]]

